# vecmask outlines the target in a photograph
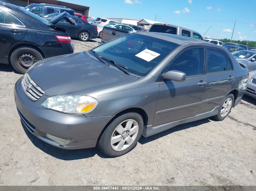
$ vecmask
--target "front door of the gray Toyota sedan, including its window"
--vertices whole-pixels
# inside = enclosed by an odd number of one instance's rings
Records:
[[[162,81],[159,87],[153,126],[204,113],[207,93],[204,75],[204,48],[189,48],[183,51],[163,72],[185,72],[183,82]],[[204,101],[204,102],[203,102]]]

